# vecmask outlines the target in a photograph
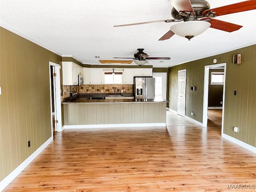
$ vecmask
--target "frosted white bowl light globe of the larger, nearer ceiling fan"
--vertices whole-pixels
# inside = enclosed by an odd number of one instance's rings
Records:
[[[197,36],[203,33],[210,26],[211,24],[209,22],[196,20],[180,22],[171,26],[170,30],[181,37]]]

